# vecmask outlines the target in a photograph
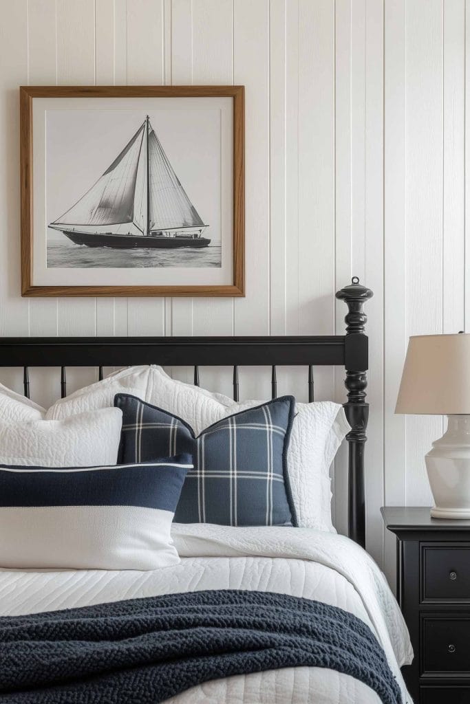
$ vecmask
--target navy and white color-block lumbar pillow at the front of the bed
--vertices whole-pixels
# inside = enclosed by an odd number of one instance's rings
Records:
[[[190,455],[103,467],[0,465],[0,567],[155,570]]]

